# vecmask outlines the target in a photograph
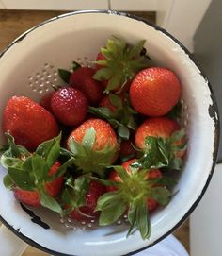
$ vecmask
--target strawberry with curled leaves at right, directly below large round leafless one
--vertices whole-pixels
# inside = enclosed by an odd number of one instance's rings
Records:
[[[184,130],[172,119],[152,117],[145,120],[136,130],[135,145],[144,152],[138,162],[148,168],[180,169],[182,166],[186,147]]]

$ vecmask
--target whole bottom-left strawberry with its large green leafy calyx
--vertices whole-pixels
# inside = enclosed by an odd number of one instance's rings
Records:
[[[8,149],[1,156],[1,164],[8,170],[4,184],[21,202],[31,206],[44,206],[56,213],[62,209],[55,197],[60,193],[66,168],[72,158],[62,165],[58,162],[61,135],[40,144],[30,153],[24,146],[16,145],[14,138],[6,134]]]

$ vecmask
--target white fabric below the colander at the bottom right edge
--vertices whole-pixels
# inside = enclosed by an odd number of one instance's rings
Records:
[[[135,256],[189,256],[182,244],[173,236],[169,235],[160,243],[145,249]]]

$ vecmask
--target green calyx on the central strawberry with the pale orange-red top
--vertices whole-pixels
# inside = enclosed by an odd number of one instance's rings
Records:
[[[108,143],[102,150],[94,150],[96,143],[96,131],[93,127],[88,128],[81,143],[71,138],[70,150],[74,158],[74,164],[78,169],[86,173],[96,173],[104,176],[106,166],[112,164],[117,157],[118,145]]]

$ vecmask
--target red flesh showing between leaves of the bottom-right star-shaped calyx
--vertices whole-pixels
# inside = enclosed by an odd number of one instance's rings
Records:
[[[135,159],[122,163],[122,167],[129,175],[132,174],[130,164],[133,162],[135,162]],[[162,178],[162,173],[159,169],[151,169],[146,175],[146,179],[158,179],[158,178]],[[119,177],[119,174],[116,171],[112,171],[109,174],[109,179],[116,182],[122,182],[121,178]],[[115,186],[107,187],[107,191],[116,191],[116,190],[118,190],[118,188]],[[158,207],[158,202],[155,199],[152,199],[151,197],[147,198],[147,204],[148,204],[149,213],[153,212]]]

